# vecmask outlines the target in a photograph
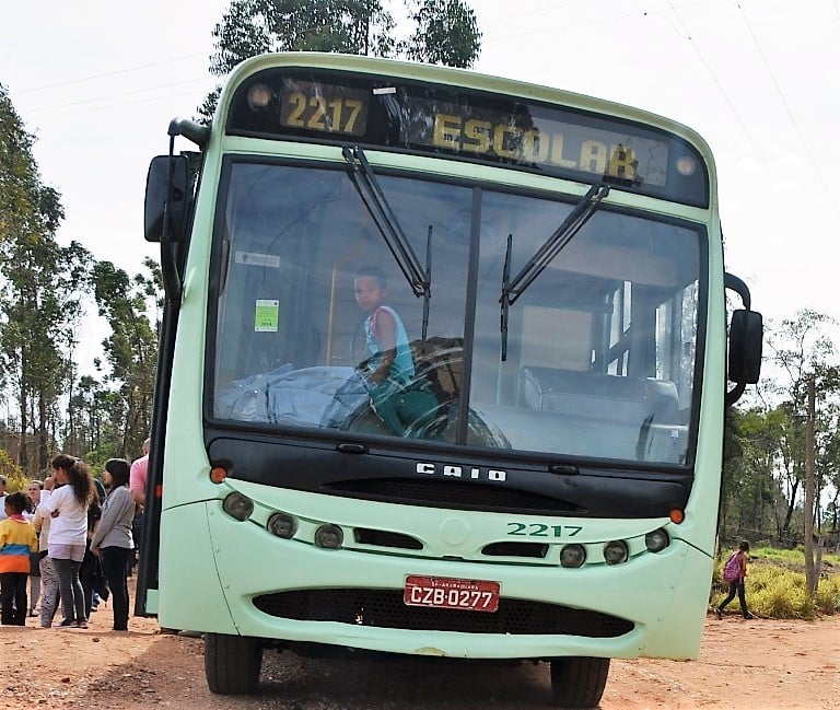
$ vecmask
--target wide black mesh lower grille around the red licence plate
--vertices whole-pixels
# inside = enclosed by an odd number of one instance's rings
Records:
[[[610,639],[633,630],[627,619],[567,606],[501,598],[495,613],[408,606],[401,590],[335,589],[278,592],[254,598],[271,616],[387,629],[465,633],[570,635]]]

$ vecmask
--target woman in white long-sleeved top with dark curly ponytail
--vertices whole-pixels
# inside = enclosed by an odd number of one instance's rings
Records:
[[[51,517],[47,554],[58,574],[61,610],[65,614],[61,626],[86,629],[79,568],[88,539],[88,507],[94,494],[93,479],[83,461],[67,454],[59,454],[52,459],[52,475],[56,482],[62,485],[40,503],[40,508]]]

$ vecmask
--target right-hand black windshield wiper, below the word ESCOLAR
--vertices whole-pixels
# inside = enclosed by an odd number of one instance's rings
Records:
[[[513,235],[508,235],[508,251],[504,255],[504,268],[502,271],[502,295],[499,302],[502,304],[501,333],[502,333],[502,362],[508,360],[508,317],[509,310],[525,292],[534,280],[542,273],[551,260],[560,254],[569,242],[572,241],[581,228],[598,209],[604,198],[609,195],[609,185],[593,185],[584,195],[569,216],[562,221],[545,244],[540,246],[520,272],[511,278],[511,252],[513,248]]]

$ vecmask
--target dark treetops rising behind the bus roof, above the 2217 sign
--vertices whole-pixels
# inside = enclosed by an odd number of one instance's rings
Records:
[[[471,67],[481,33],[464,0],[404,0],[415,32],[396,39],[396,21],[381,0],[232,0],[215,25],[210,73],[225,77],[266,51],[334,51]],[[221,88],[208,94],[199,118],[212,120]]]

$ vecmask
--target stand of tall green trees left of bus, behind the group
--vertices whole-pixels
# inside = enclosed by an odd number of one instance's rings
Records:
[[[129,278],[110,264],[94,265],[79,242],[58,243],[60,195],[42,184],[33,142],[0,85],[0,386],[10,403],[0,467],[10,468],[12,490],[45,470],[58,451],[94,465],[140,453],[161,310],[152,260]],[[80,377],[74,361],[91,293],[113,330],[103,344],[106,362],[95,362],[98,380]]]

